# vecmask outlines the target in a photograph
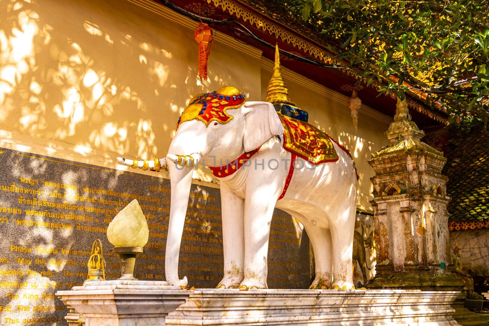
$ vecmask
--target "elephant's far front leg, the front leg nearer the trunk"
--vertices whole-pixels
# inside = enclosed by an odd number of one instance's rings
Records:
[[[221,183],[224,277],[217,288],[238,288],[244,278],[244,199]]]

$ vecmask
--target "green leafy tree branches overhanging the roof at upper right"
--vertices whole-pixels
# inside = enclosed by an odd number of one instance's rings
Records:
[[[399,97],[421,90],[458,120],[488,119],[486,0],[278,2],[325,35],[367,85],[380,80],[380,91],[397,89]]]

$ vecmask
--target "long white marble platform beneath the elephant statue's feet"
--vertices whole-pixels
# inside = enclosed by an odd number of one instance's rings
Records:
[[[459,325],[456,291],[197,289],[167,325]]]

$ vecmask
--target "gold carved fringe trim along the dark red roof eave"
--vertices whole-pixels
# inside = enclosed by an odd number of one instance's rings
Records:
[[[281,39],[285,43],[288,43],[289,45],[310,54],[319,61],[323,61],[324,63],[330,65],[344,65],[344,63],[333,59],[331,54],[323,50],[321,47],[307,42],[301,37],[291,34],[288,30],[280,27],[276,23],[262,19],[260,16],[251,12],[248,8],[240,5],[239,3],[230,0],[207,0],[207,3],[213,3],[216,7],[221,6],[222,11],[227,11],[230,15],[235,15],[236,18],[241,19],[244,22],[248,21],[250,24],[262,29],[264,32],[274,35],[275,38]],[[352,77],[357,77],[353,69],[345,69],[344,72]],[[367,81],[363,80],[362,82],[366,83]],[[381,88],[378,81],[373,81],[370,85],[376,89]],[[397,92],[395,91],[387,91],[385,94],[393,99],[397,99]],[[436,121],[448,124],[448,118],[441,113],[426,108],[425,105],[420,103],[418,100],[406,99],[406,102],[409,108],[427,115]]]

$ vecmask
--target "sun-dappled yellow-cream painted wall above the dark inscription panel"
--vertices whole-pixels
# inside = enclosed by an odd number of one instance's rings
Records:
[[[195,94],[232,85],[265,98],[272,63],[259,50],[218,33],[201,85],[197,23],[153,1],[29,2],[0,1],[1,147],[127,169],[113,158],[166,155]],[[370,210],[366,160],[386,144],[389,118],[362,108],[355,132],[345,96],[284,73],[310,122],[353,152],[358,207]]]

